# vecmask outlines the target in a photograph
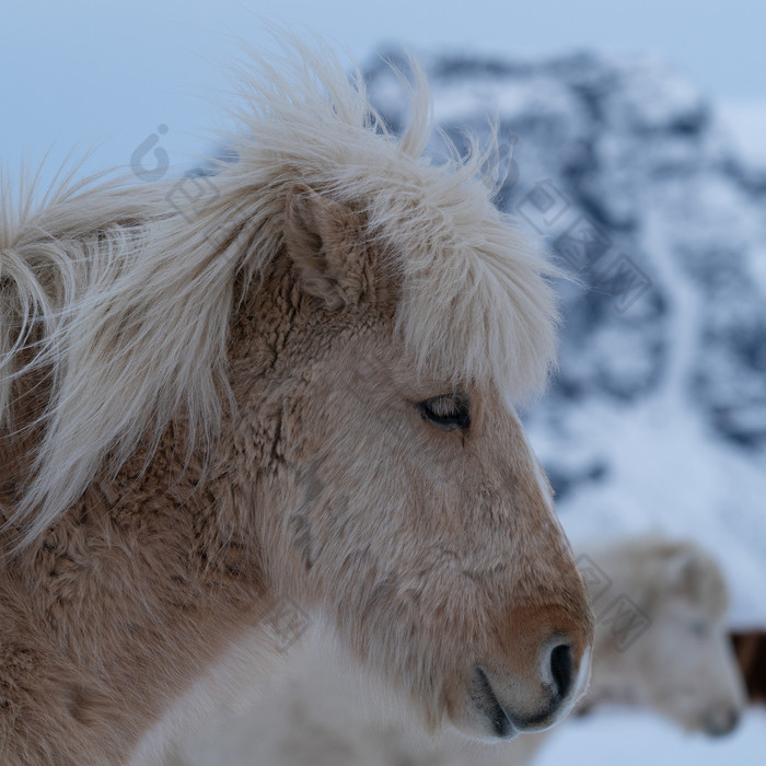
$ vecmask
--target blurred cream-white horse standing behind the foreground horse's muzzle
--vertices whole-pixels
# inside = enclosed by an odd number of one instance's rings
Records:
[[[599,619],[583,707],[622,703],[687,731],[732,731],[745,694],[727,634],[726,584],[710,555],[651,536],[589,547],[578,561]],[[178,744],[169,766],[521,766],[548,736],[427,739],[318,628],[253,707],[236,708]]]

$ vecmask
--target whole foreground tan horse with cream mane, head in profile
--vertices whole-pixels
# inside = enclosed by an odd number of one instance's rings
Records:
[[[422,729],[508,736],[582,694],[593,616],[512,406],[552,363],[553,269],[483,155],[420,155],[417,68],[397,139],[327,51],[269,61],[196,201],[3,181],[8,766],[151,757],[247,647],[266,669],[287,603]]]

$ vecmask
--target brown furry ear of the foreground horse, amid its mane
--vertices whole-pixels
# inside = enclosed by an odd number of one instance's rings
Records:
[[[314,189],[292,187],[285,211],[285,242],[299,283],[337,311],[359,301],[363,274],[358,213]]]

